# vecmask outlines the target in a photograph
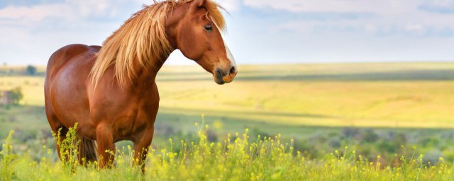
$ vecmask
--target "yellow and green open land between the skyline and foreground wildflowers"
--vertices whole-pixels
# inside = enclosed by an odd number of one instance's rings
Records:
[[[43,144],[55,148],[44,68],[38,76],[18,76],[23,70],[0,76],[0,90],[20,86],[24,93],[21,106],[0,108],[0,143],[15,130],[18,153],[40,153]],[[165,66],[157,85],[153,148],[166,148],[169,138],[196,141],[194,122],[204,114],[214,141],[249,128],[251,137],[292,138],[309,158],[348,146],[392,164],[395,154],[415,146],[427,161],[454,162],[454,63],[250,65],[223,86],[199,66]]]

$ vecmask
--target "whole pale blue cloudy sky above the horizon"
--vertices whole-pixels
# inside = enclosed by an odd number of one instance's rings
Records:
[[[454,62],[454,0],[218,0],[238,64]],[[0,64],[101,45],[153,0],[0,0]],[[166,64],[194,64],[175,51]]]

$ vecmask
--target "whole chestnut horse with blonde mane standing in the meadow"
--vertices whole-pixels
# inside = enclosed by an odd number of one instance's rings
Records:
[[[100,168],[114,160],[107,151],[116,150],[116,141],[131,140],[134,160],[144,166],[159,107],[155,77],[172,51],[179,49],[218,84],[233,81],[237,74],[221,37],[225,21],[219,8],[210,0],[155,2],[133,14],[102,47],[58,49],[45,77],[45,111],[52,131],[61,129],[65,139],[77,123],[79,160],[99,157]]]

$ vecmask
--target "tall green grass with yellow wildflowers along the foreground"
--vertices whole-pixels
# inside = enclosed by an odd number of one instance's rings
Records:
[[[384,167],[380,156],[367,160],[345,148],[313,160],[294,151],[292,140],[282,142],[280,135],[253,139],[245,129],[211,142],[205,134],[208,125],[196,126],[198,141],[169,139],[167,148],[151,148],[145,175],[132,165],[129,146],[117,148],[113,168],[99,170],[96,163],[77,163],[74,129],[59,143],[72,148],[63,162],[52,161],[45,146],[40,160],[12,153],[11,132],[0,153],[0,180],[454,180],[453,164],[443,158],[431,165],[423,163],[423,155],[409,154],[396,156],[398,166]]]

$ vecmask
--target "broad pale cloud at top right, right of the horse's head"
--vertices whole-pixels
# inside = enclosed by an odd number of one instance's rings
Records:
[[[357,14],[358,18],[332,18],[325,21],[317,19],[282,20],[272,29],[298,31],[363,31],[372,34],[400,33],[409,35],[432,33],[435,31],[454,31],[454,14],[431,13],[421,11],[421,4],[439,8],[451,7],[453,0],[243,0],[245,6],[252,8],[271,8],[292,13],[343,13]],[[367,16],[362,16],[367,15]],[[370,16],[373,15],[373,16]]]

